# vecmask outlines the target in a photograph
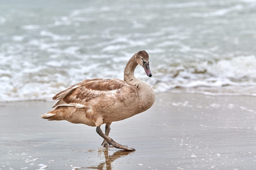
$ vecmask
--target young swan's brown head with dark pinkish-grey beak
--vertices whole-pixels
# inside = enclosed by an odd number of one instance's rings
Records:
[[[139,51],[135,56],[135,61],[144,68],[148,77],[152,76],[152,73],[149,69],[148,53],[146,51]]]

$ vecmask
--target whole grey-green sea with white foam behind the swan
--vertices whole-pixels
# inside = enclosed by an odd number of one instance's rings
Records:
[[[256,0],[1,1],[0,102],[123,79],[141,50],[156,93],[256,96],[255,16]]]

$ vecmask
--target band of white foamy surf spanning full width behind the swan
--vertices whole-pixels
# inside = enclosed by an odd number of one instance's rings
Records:
[[[108,58],[108,57],[107,57]],[[102,57],[96,57],[101,59]],[[109,58],[108,58],[109,59]],[[50,100],[56,93],[73,84],[95,77],[122,79],[128,57],[109,63],[85,64],[79,61],[47,61],[43,66],[24,63],[19,73],[0,69],[0,102],[20,100]],[[67,62],[70,62],[67,65]],[[120,66],[118,63],[122,63]],[[72,65],[73,67],[71,67]],[[109,65],[109,66],[108,66]],[[106,67],[107,66],[107,67]],[[215,62],[189,62],[154,66],[153,77],[147,77],[138,67],[135,76],[148,82],[156,93],[184,92],[211,95],[255,96],[256,57],[254,55],[219,59]]]

